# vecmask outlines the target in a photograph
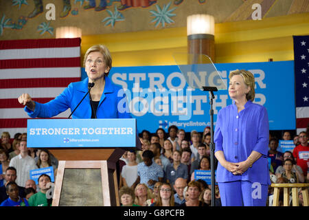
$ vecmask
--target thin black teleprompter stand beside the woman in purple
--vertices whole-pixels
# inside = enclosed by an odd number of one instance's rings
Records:
[[[211,172],[211,206],[215,206],[215,172],[214,172],[214,151],[216,146],[214,144],[214,109],[213,100],[215,98],[214,91],[218,91],[217,87],[203,87],[203,91],[209,91],[209,104],[210,104],[210,135],[211,142],[209,144],[210,148],[210,172]]]

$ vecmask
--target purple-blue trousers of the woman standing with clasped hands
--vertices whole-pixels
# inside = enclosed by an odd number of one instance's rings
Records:
[[[250,181],[218,183],[222,206],[266,206],[268,185]]]

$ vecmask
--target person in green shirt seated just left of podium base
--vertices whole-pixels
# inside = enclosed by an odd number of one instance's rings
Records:
[[[32,195],[29,199],[29,206],[51,206],[52,199],[47,199],[46,192],[49,190],[50,185],[48,183],[51,182],[49,175],[42,174],[38,177],[38,187],[40,188],[39,192]]]

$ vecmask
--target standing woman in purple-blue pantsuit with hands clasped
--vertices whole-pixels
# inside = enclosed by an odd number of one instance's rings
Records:
[[[268,115],[254,104],[255,80],[246,70],[229,74],[233,104],[217,115],[214,142],[216,181],[222,206],[266,206],[268,185]]]

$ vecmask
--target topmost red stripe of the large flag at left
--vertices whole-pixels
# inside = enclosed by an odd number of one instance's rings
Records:
[[[32,48],[52,48],[52,47],[80,47],[80,38],[76,39],[26,39],[0,41],[1,50],[10,49],[32,49]]]

